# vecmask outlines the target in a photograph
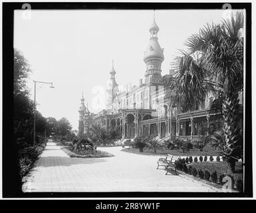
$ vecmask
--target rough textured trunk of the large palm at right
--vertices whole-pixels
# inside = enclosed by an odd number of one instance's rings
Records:
[[[239,137],[239,97],[238,93],[227,93],[223,100],[223,119],[225,132],[224,156],[232,172],[235,172],[235,158],[241,151]],[[238,151],[238,152],[237,152]],[[235,157],[235,158],[233,158]]]

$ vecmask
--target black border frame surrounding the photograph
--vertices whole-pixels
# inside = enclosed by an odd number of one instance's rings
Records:
[[[222,9],[224,3],[29,3],[32,9]],[[13,14],[23,3],[3,3],[3,198],[237,198],[253,196],[251,119],[251,3],[231,3],[246,9],[245,192],[21,192],[13,142]],[[120,200],[121,201],[121,200]],[[132,200],[131,200],[132,201]]]

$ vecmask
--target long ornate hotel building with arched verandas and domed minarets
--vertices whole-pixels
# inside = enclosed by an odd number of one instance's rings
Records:
[[[215,99],[211,94],[205,103],[194,106],[186,112],[182,111],[179,105],[172,105],[166,99],[166,87],[168,80],[172,78],[173,71],[170,70],[168,75],[162,76],[161,64],[164,61],[164,49],[158,43],[158,31],[159,27],[154,20],[149,28],[150,40],[144,52],[146,64],[144,82],[140,79],[138,85],[127,87],[126,91],[120,91],[116,83],[116,71],[112,65],[106,90],[106,109],[98,114],[91,113],[84,105],[82,96],[79,109],[79,136],[92,134],[90,127],[94,124],[106,128],[107,131],[120,131],[122,142],[134,139],[136,136],[150,134],[157,135],[158,141],[168,138],[183,140],[189,138],[195,142],[200,140],[198,133],[202,126],[210,128],[213,124],[215,128],[223,126],[221,114],[210,110],[210,105]],[[241,112],[243,112],[242,105]],[[243,119],[242,114],[241,119]]]

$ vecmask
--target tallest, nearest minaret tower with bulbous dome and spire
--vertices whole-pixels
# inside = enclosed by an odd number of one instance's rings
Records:
[[[162,85],[161,64],[164,61],[164,49],[158,43],[157,33],[159,31],[156,21],[153,20],[149,28],[150,41],[144,52],[146,63],[145,83],[146,85]]]

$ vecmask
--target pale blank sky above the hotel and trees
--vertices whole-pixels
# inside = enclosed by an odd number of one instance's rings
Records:
[[[164,48],[162,75],[184,49],[184,42],[206,23],[219,23],[223,10],[156,10]],[[37,109],[43,116],[66,117],[78,129],[82,91],[91,112],[104,107],[112,59],[120,86],[144,81],[143,61],[153,21],[152,10],[15,11],[14,47],[29,61],[33,73],[27,83],[33,97],[33,80],[53,82],[55,89],[37,85]],[[100,99],[99,99],[100,97]]]

